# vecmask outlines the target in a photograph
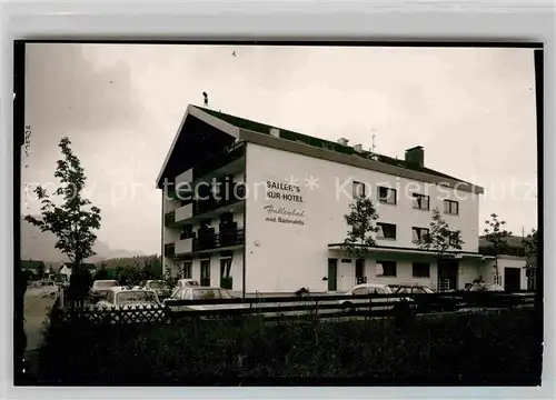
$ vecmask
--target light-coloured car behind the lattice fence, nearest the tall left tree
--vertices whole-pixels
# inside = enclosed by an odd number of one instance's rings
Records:
[[[96,307],[118,310],[152,309],[160,308],[160,301],[153,290],[112,287],[106,290],[105,299],[100,300]]]

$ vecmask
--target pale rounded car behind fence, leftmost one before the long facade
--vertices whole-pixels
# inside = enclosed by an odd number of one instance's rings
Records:
[[[395,296],[391,289],[387,284],[381,283],[361,283],[353,287],[346,292],[346,299],[339,300],[340,308],[344,311],[363,310],[369,307],[368,299],[350,299],[349,297],[363,296],[363,294],[390,294],[384,298],[374,298],[370,301],[376,303],[373,306],[373,311],[391,310],[394,306],[401,301],[408,303],[414,303],[413,299],[404,296]]]

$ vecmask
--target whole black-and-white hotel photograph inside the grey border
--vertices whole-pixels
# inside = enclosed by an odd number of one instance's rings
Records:
[[[540,384],[502,44],[18,42],[16,384]]]

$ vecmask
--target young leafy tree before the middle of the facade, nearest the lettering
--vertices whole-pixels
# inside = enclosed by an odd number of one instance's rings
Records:
[[[376,244],[373,234],[378,231],[378,213],[373,200],[366,197],[357,198],[355,203],[349,204],[349,213],[344,218],[349,230],[341,248],[351,258],[365,257],[368,248]]]

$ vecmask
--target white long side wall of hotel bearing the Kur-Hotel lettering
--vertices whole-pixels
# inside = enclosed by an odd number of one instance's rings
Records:
[[[287,151],[247,143],[246,183],[246,291],[282,292],[294,291],[300,287],[314,292],[327,291],[327,259],[334,256],[328,250],[329,243],[344,242],[347,224],[344,214],[348,212],[353,201],[351,181],[369,183],[368,196],[374,200],[379,213],[378,222],[397,226],[396,240],[377,240],[379,246],[417,248],[411,242],[411,227],[428,228],[435,207],[444,210],[443,199],[459,202],[459,216],[445,216],[451,229],[461,231],[465,241],[463,251],[478,250],[478,196],[431,183],[410,181],[405,178],[384,174],[357,167],[335,163]],[[306,187],[306,179],[317,183],[312,190]],[[288,183],[287,179],[297,179],[299,190],[268,189],[278,196],[290,194],[289,200],[270,198],[267,194],[267,182]],[[377,186],[397,189],[397,204],[380,204],[377,201]],[[413,208],[410,193],[419,192],[430,196],[430,210],[421,211]],[[301,217],[289,217],[298,224],[278,222],[278,214],[269,213],[265,207],[285,208]],[[276,222],[267,218],[277,218]],[[301,224],[302,222],[302,224]],[[340,258],[340,257],[338,257]],[[367,261],[369,262],[369,261]],[[338,283],[340,269],[345,273],[355,266],[345,268],[338,260]],[[376,268],[368,264],[367,268]],[[409,269],[398,266],[406,279]],[[431,267],[429,283],[436,286],[436,272]],[[470,273],[470,272],[469,272]],[[476,278],[476,270],[474,271]],[[370,276],[369,276],[370,279]],[[409,279],[409,278],[408,278]],[[435,280],[435,284],[431,281]],[[386,280],[383,281],[387,283]],[[458,280],[463,287],[461,279]],[[353,286],[353,284],[351,284]],[[339,289],[339,288],[338,288]]]

